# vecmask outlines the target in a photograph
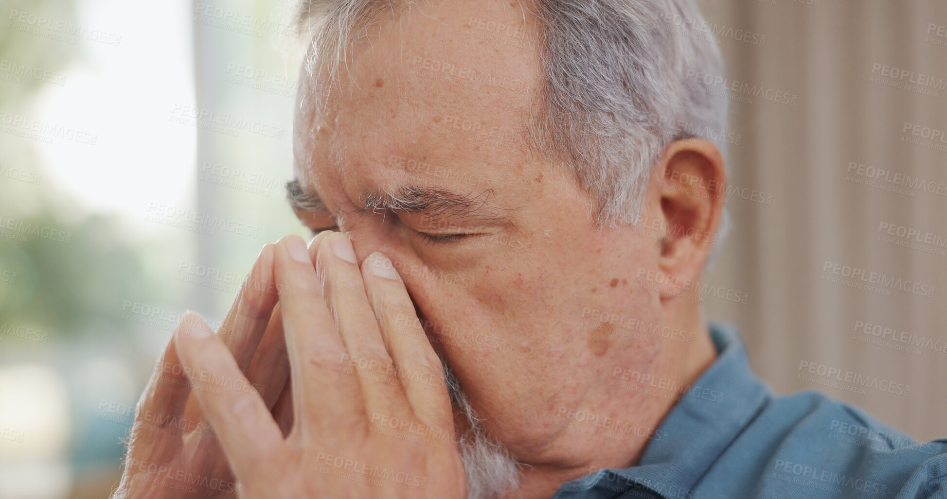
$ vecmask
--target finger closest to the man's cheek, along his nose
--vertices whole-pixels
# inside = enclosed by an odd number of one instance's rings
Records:
[[[366,293],[416,418],[453,431],[451,399],[438,354],[418,320],[414,303],[391,260],[372,253],[362,262]]]

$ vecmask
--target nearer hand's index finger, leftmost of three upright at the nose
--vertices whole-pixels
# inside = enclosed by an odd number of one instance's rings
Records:
[[[323,237],[316,236],[313,245]],[[325,234],[325,236],[323,236]],[[338,421],[364,419],[359,384],[342,372],[346,348],[322,297],[313,260],[298,236],[277,242],[276,278],[283,290],[279,299],[283,334],[290,358],[295,428],[337,434]],[[335,426],[333,426],[335,425]]]

